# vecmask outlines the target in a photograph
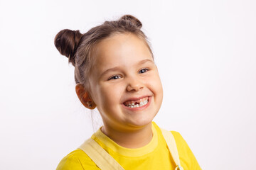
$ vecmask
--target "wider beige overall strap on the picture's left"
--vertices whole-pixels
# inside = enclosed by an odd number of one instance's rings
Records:
[[[102,170],[124,170],[118,162],[108,154],[92,138],[86,140],[79,149],[82,149],[93,162]]]

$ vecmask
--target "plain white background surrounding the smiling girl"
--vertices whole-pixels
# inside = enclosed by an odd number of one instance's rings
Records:
[[[142,21],[164,86],[154,121],[181,132],[203,169],[255,169],[256,1],[0,3],[0,169],[55,169],[92,135],[53,39],[127,13]]]

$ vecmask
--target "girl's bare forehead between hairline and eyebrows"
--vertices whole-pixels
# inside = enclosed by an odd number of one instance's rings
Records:
[[[153,57],[144,40],[132,33],[115,34],[99,42],[95,48],[95,67],[131,67]]]

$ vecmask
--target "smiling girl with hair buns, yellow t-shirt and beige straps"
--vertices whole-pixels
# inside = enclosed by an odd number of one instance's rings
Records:
[[[81,34],[61,30],[55,47],[75,67],[83,106],[103,126],[57,169],[201,169],[178,132],[152,122],[163,90],[142,23],[125,15]]]

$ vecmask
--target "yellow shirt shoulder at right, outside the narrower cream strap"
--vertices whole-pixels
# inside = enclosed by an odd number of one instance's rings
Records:
[[[196,157],[194,156],[190,147],[188,147],[186,140],[183,139],[181,134],[176,131],[171,131],[171,134],[174,135],[174,139],[178,149],[178,156],[180,157],[181,166],[183,166],[183,169],[201,169],[196,160]]]

